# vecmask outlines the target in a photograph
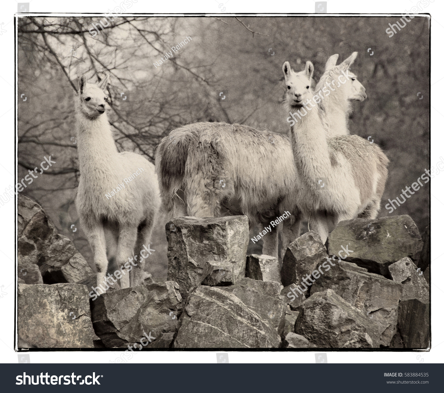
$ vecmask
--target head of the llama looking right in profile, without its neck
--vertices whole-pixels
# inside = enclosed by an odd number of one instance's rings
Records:
[[[353,52],[339,65],[336,65],[339,55],[335,54],[330,56],[325,64],[325,73],[321,77],[319,84],[325,85],[325,81],[331,82],[332,80],[335,80],[335,86],[341,86],[338,91],[341,91],[341,93],[345,95],[345,99],[357,101],[365,100],[367,98],[365,87],[362,86],[359,80],[357,80],[356,75],[349,71],[349,68],[355,61],[357,55],[358,52]]]

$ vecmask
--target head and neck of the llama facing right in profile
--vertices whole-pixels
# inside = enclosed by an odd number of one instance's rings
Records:
[[[348,119],[352,111],[350,100],[363,101],[367,98],[364,86],[349,71],[357,54],[353,52],[339,65],[336,65],[339,55],[330,56],[316,85],[315,95],[322,97],[322,93],[325,94],[319,103],[319,113],[328,136],[348,135]]]

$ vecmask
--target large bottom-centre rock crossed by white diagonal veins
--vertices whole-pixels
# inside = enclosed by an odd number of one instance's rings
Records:
[[[229,287],[199,286],[190,293],[174,348],[278,348],[279,292],[277,283],[248,278]]]

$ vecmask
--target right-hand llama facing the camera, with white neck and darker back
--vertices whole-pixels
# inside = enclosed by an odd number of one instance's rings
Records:
[[[309,88],[313,76],[310,61],[301,72],[294,72],[286,61],[282,71],[287,85],[286,104],[300,114],[290,125],[301,186],[297,203],[325,243],[339,221],[377,217],[389,160],[381,148],[359,136],[326,135],[316,105],[319,96],[313,96]]]

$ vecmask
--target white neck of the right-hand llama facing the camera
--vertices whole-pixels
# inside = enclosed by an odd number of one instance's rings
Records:
[[[309,105],[299,109],[301,119],[290,127],[291,146],[297,171],[308,184],[319,177],[329,177],[331,169],[327,137],[318,108],[309,110]]]

